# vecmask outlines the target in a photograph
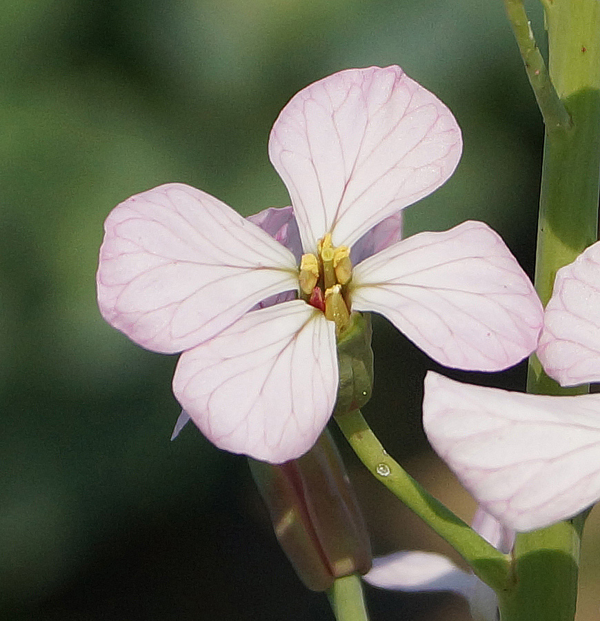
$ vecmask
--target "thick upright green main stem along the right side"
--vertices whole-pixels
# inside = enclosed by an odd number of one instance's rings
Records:
[[[550,79],[572,120],[570,127],[556,126],[548,123],[544,114],[547,125],[535,284],[546,304],[557,270],[572,262],[597,239],[600,2],[543,0],[543,4],[548,28]],[[532,357],[528,391],[567,395],[586,392],[587,387],[561,388],[543,373],[539,361]],[[499,593],[502,621],[573,620],[583,521],[583,518],[575,518],[517,537],[514,547],[516,588],[510,593]]]

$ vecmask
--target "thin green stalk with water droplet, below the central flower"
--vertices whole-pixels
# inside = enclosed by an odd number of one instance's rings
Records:
[[[394,461],[359,410],[336,416],[336,421],[354,452],[377,480],[454,547],[492,589],[499,592],[510,589],[512,574],[508,557],[432,497]]]

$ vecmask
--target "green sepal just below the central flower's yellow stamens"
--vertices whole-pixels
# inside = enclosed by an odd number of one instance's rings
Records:
[[[350,322],[337,339],[339,387],[334,416],[360,409],[371,398],[373,352],[371,317],[352,313]]]

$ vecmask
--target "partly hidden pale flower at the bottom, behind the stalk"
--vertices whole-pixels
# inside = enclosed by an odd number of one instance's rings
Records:
[[[478,509],[472,527],[488,543],[509,553],[514,531],[504,528],[494,517]],[[497,621],[498,600],[490,586],[470,571],[464,571],[444,555],[434,552],[395,552],[373,560],[366,582],[382,589],[423,593],[457,593],[469,604],[474,621]]]

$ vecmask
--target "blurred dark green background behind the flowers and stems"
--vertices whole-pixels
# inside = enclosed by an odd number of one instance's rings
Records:
[[[332,619],[274,542],[246,460],[191,426],[169,442],[175,357],[97,311],[103,219],[167,181],[243,215],[288,204],[266,148],[279,110],[337,70],[397,63],[450,106],[465,143],[448,184],[407,210],[408,233],[482,219],[531,270],[542,126],[501,1],[3,0],[0,16],[0,618]],[[374,329],[366,416],[470,518],[421,431],[435,366],[383,320]],[[375,551],[447,551],[344,453]],[[599,604],[593,520],[580,621]],[[467,618],[450,596],[368,600],[373,621]]]

